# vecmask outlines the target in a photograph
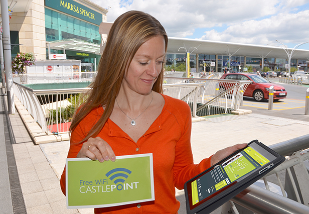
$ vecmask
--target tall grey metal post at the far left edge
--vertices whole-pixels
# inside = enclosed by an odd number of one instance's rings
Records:
[[[3,26],[3,49],[5,56],[6,79],[7,79],[8,112],[9,114],[15,114],[10,22],[9,22],[9,11],[8,11],[7,0],[1,0],[1,15],[2,15],[2,26]]]

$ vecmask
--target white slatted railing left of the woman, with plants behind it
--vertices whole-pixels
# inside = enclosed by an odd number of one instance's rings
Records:
[[[33,90],[14,82],[15,95],[46,134],[69,131],[71,118],[85,90],[89,88]]]

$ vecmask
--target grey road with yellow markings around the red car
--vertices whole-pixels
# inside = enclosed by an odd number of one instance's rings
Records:
[[[309,121],[309,115],[304,115],[305,94],[309,85],[295,85],[279,82],[279,78],[269,78],[269,81],[285,87],[287,96],[273,102],[273,110],[268,110],[268,100],[255,101],[251,97],[244,97],[240,109],[251,110],[252,113],[269,115],[274,117],[288,118],[299,121]]]

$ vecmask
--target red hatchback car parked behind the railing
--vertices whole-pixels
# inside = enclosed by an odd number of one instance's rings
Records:
[[[244,92],[244,96],[253,97],[256,101],[268,99],[269,87],[273,85],[273,99],[283,99],[286,97],[286,90],[283,86],[269,82],[267,79],[250,73],[226,73],[220,79],[237,79],[237,80],[251,80],[252,83],[248,85]],[[222,87],[219,91],[222,91]],[[224,88],[226,90],[227,88]]]

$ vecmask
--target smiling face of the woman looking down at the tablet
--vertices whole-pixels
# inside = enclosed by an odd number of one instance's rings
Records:
[[[122,81],[125,90],[148,94],[156,82],[165,59],[163,36],[152,37],[135,53]]]

